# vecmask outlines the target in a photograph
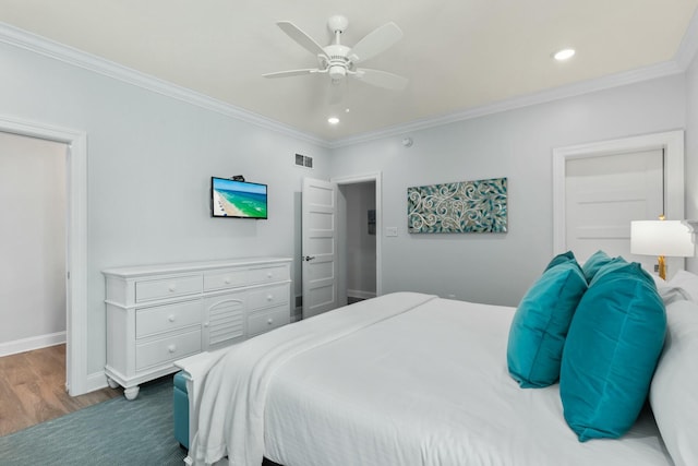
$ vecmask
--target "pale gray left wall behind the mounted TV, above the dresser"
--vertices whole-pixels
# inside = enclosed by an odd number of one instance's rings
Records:
[[[0,70],[2,113],[87,133],[88,373],[106,359],[103,268],[297,255],[293,154],[329,178],[327,150],[7,44]],[[210,218],[209,177],[239,174],[269,186],[268,220]]]

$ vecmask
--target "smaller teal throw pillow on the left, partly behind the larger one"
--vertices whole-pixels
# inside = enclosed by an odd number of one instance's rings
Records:
[[[549,386],[559,379],[567,328],[586,289],[573,260],[545,271],[524,296],[507,345],[509,373],[521,387]]]

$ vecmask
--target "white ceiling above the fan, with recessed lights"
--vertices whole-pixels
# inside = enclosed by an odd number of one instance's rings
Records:
[[[698,0],[0,0],[0,22],[193,89],[324,141],[443,118],[671,62]],[[351,82],[327,104],[326,75],[267,80],[316,59],[276,26],[321,45],[349,19],[353,45],[394,21],[405,37],[366,61],[404,92]],[[551,53],[574,47],[558,63]],[[349,112],[346,109],[349,108]],[[330,115],[341,122],[327,124]]]

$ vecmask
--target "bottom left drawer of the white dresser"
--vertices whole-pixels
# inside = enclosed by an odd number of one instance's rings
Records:
[[[196,353],[201,353],[201,328],[136,345],[135,370],[164,365]]]

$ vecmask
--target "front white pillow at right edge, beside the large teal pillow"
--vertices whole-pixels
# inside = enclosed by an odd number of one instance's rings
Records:
[[[698,465],[698,304],[666,307],[666,342],[650,386],[650,405],[676,466]]]

